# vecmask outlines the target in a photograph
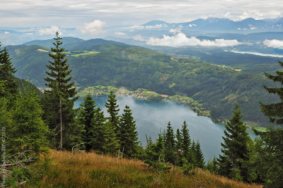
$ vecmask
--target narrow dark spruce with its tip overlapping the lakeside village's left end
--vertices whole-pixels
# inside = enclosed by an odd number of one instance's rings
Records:
[[[114,129],[115,134],[118,133],[118,124],[119,124],[119,105],[117,105],[117,100],[115,99],[116,95],[113,94],[113,91],[110,91],[110,95],[108,96],[108,102],[105,102],[105,107],[107,108],[107,112],[110,114],[108,118],[111,123],[112,129]]]

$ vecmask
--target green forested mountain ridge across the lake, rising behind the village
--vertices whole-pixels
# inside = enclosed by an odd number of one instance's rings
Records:
[[[274,84],[262,74],[242,74],[199,60],[172,58],[146,48],[105,40],[69,45],[65,47],[73,51],[65,50],[65,53],[76,86],[115,85],[132,90],[147,88],[167,95],[189,96],[199,100],[204,108],[211,110],[214,118],[221,120],[229,119],[231,109],[238,102],[243,107],[244,120],[268,125],[268,119],[262,118],[258,101],[269,103],[276,99],[266,97],[261,84]],[[83,51],[75,51],[75,47]],[[15,75],[23,79],[28,76],[37,86],[44,86],[45,65],[50,60],[49,49],[35,45],[7,48],[18,69]],[[88,54],[92,51],[100,53],[74,56],[75,53]]]

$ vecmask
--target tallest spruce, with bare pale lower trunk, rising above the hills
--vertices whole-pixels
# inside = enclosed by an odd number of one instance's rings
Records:
[[[78,99],[78,97],[70,99],[75,96],[77,91],[76,88],[72,88],[75,84],[75,82],[70,82],[72,77],[68,77],[72,70],[69,70],[68,59],[64,59],[66,54],[63,53],[64,48],[60,47],[61,39],[57,31],[53,43],[55,47],[51,48],[53,53],[48,54],[53,62],[49,61],[50,64],[46,65],[50,72],[46,71],[47,77],[44,78],[47,82],[45,85],[49,88],[44,91],[46,112],[44,118],[52,130],[53,141],[59,142],[60,149],[63,148],[63,131],[68,134],[76,134],[69,131],[69,126],[74,121],[75,110],[73,107],[74,102]]]

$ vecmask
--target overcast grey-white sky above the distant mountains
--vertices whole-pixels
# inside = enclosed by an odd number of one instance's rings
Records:
[[[0,6],[1,27],[58,26],[84,28],[95,20],[103,26],[141,25],[150,20],[187,22],[207,17],[239,21],[283,16],[281,0],[9,0]]]

